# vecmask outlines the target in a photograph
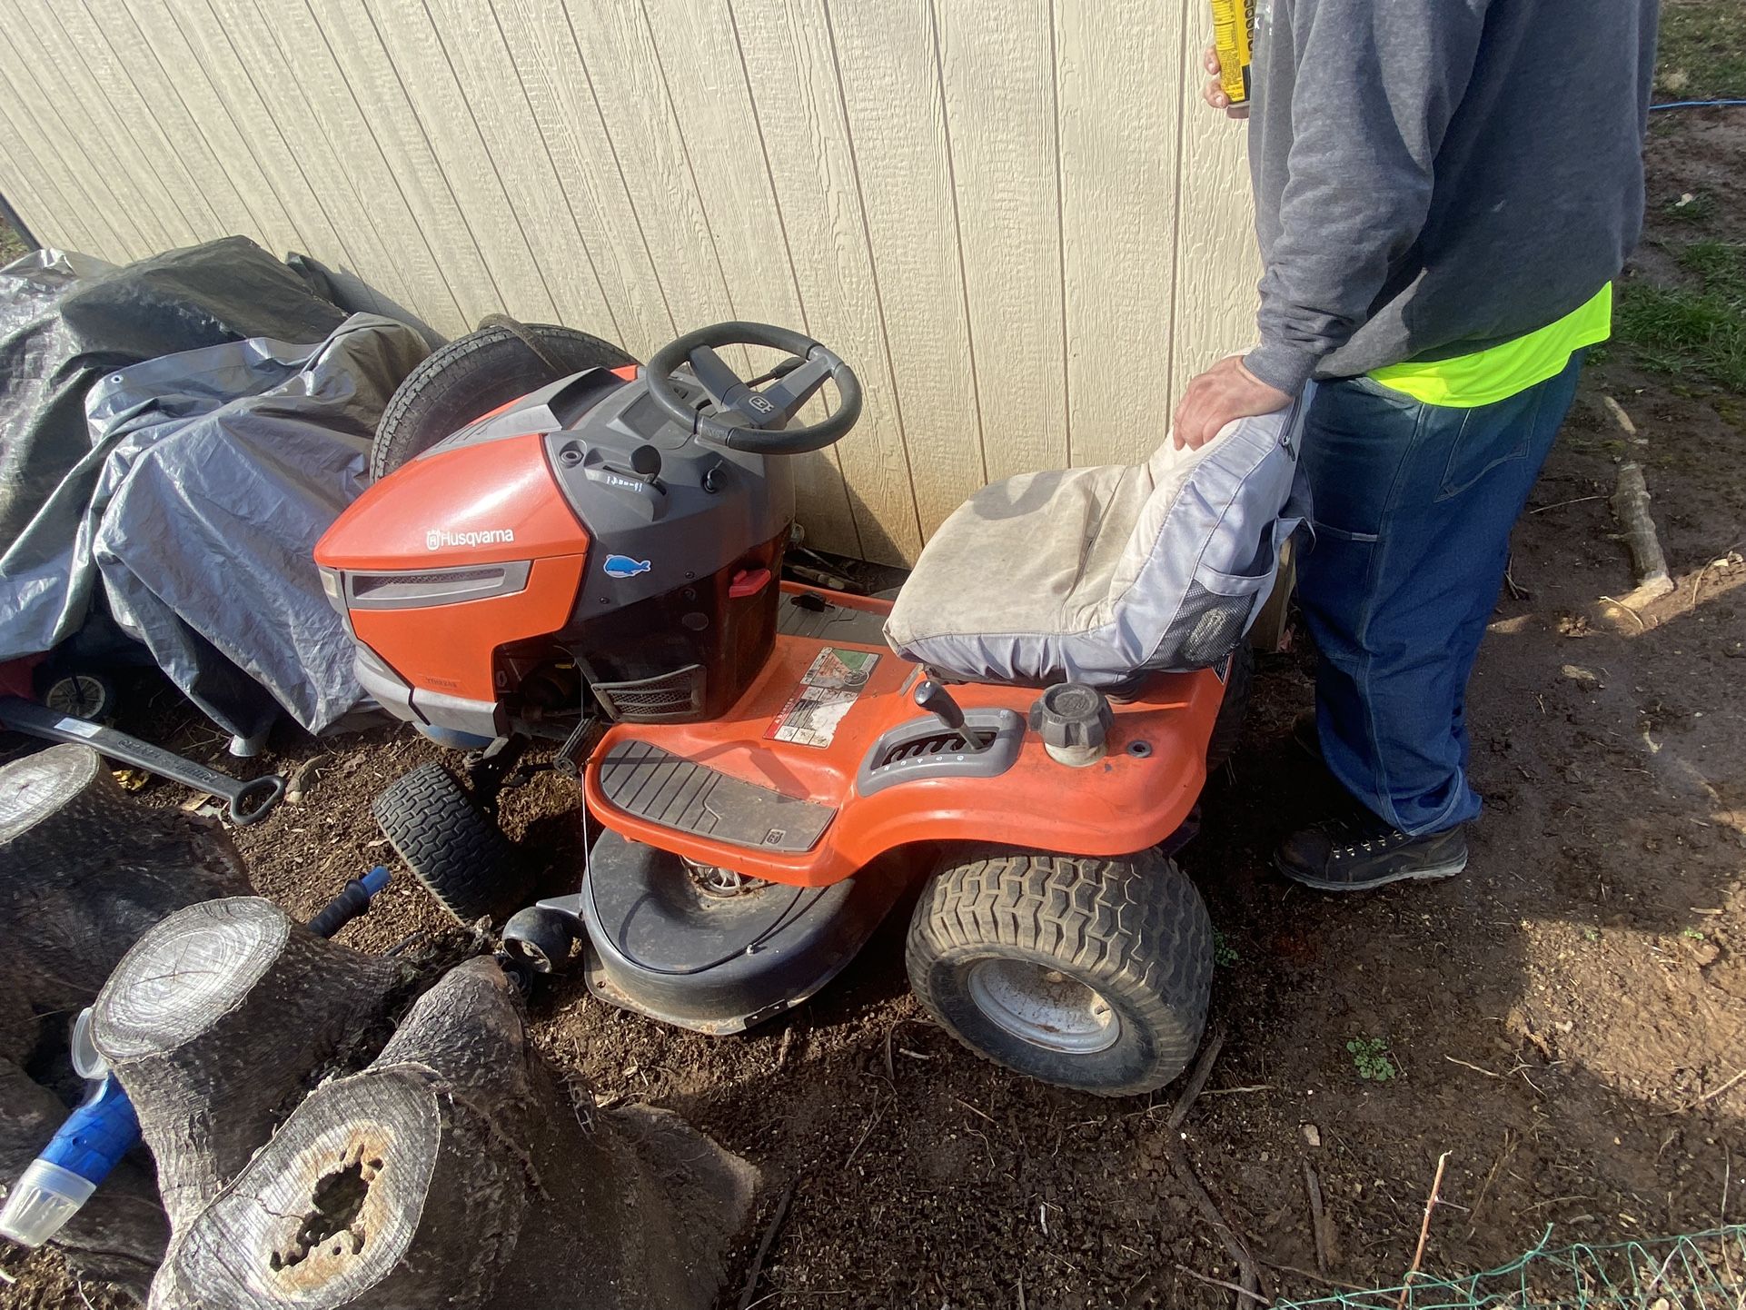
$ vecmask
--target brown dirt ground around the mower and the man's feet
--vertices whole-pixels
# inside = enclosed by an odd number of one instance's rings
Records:
[[[1659,122],[1639,276],[1674,276],[1667,213],[1713,197],[1704,236],[1746,241],[1746,114]],[[1629,437],[1603,396],[1636,424]],[[1224,1048],[1182,1134],[1275,1293],[1399,1282],[1439,1155],[1425,1268],[1535,1245],[1713,1228],[1746,1156],[1746,396],[1641,372],[1615,346],[1584,381],[1517,531],[1512,590],[1470,693],[1488,812],[1470,872],[1339,900],[1268,866],[1325,807],[1296,753],[1313,655],[1261,662],[1252,716],[1184,852],[1220,933]],[[1643,463],[1676,589],[1636,615],[1606,496]],[[1301,645],[1301,643],[1299,643]],[[190,730],[192,732],[192,730]],[[194,734],[217,753],[211,734]],[[370,796],[435,748],[400,730],[285,742],[325,755],[309,798],[241,833],[264,894],[314,910],[388,858]],[[175,798],[175,788],[157,786]],[[552,887],[578,814],[552,774],[505,802]],[[402,877],[342,940],[438,927]],[[1175,1088],[1100,1100],[960,1050],[910,997],[903,915],[798,1013],[742,1038],[660,1027],[564,978],[533,1003],[540,1046],[602,1102],[677,1111],[793,1186],[756,1303],[777,1307],[1229,1305],[1217,1233],[1166,1160]],[[1353,1050],[1351,1046],[1357,1046]],[[1362,1078],[1360,1064],[1379,1078]],[[1304,1165],[1332,1226],[1327,1275]],[[766,1203],[768,1210],[768,1203]],[[725,1293],[740,1298],[749,1256]],[[45,1261],[5,1307],[79,1307]]]

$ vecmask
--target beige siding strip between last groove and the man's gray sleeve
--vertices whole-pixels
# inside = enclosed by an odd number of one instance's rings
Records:
[[[1194,3],[1194,0],[1187,0]],[[1182,161],[1177,187],[1177,285],[1172,374],[1189,377],[1255,341],[1255,203],[1248,187],[1248,126],[1200,98],[1208,24],[1189,10],[1182,49]],[[1175,405],[1175,395],[1170,403]]]

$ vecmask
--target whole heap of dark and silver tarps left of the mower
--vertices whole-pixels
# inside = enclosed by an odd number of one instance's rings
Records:
[[[243,238],[0,269],[0,660],[112,615],[227,732],[333,723],[360,690],[309,552],[426,351]]]

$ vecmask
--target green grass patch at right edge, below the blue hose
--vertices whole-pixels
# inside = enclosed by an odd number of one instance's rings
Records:
[[[1692,241],[1674,255],[1690,278],[1678,286],[1624,286],[1613,334],[1643,367],[1746,391],[1746,245]]]

